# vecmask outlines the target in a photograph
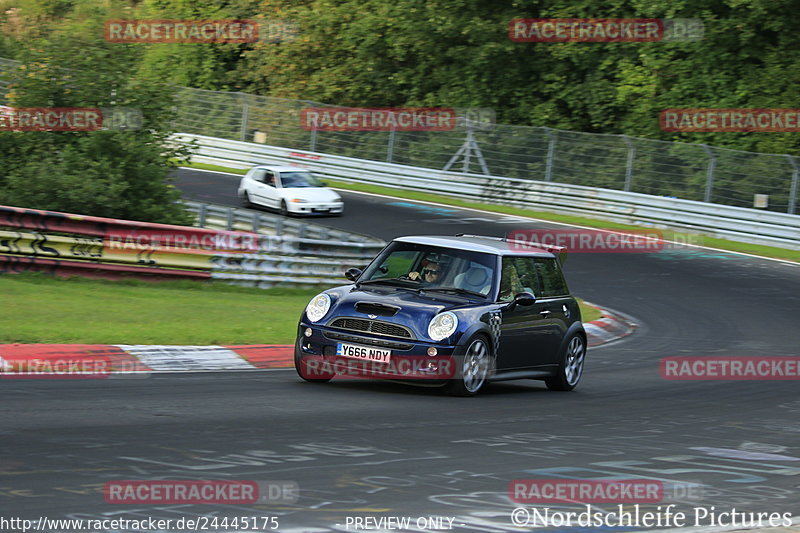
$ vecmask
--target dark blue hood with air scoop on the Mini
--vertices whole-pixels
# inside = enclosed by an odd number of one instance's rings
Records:
[[[336,297],[325,324],[343,316],[380,320],[409,327],[417,338],[428,337],[428,323],[438,313],[475,305],[463,298],[429,293],[424,289],[420,294],[413,290],[394,290],[385,285],[360,288],[350,285],[330,292]],[[391,306],[398,308],[397,311],[394,312]]]

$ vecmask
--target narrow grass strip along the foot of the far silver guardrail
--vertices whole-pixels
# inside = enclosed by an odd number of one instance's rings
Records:
[[[214,172],[230,172],[233,174],[245,174],[247,170],[222,167],[217,165],[207,165],[204,163],[193,163],[189,165],[192,168],[203,170],[212,170]],[[511,207],[504,205],[482,204],[478,202],[469,202],[460,200],[458,198],[451,198],[448,196],[440,196],[438,194],[407,191],[400,189],[393,189],[391,187],[382,187],[380,185],[369,185],[363,183],[348,183],[344,181],[325,180],[331,187],[345,189],[357,192],[368,192],[373,194],[382,194],[385,196],[395,196],[405,200],[421,200],[425,202],[435,202],[439,204],[451,205],[454,207],[467,207],[471,209],[480,209],[482,211],[489,211],[492,213],[500,213],[506,215],[523,216],[530,218],[538,218],[541,220],[549,220],[552,222],[560,222],[562,224],[572,224],[575,226],[586,226],[590,228],[602,229],[619,229],[619,230],[641,230],[641,226],[633,226],[629,224],[619,224],[616,222],[607,222],[593,218],[584,218],[574,215],[561,215],[558,213],[549,213],[546,211],[533,211],[530,209],[522,209],[519,207]],[[785,248],[778,248],[775,246],[763,246],[760,244],[749,244],[743,242],[729,241],[727,239],[717,239],[715,237],[707,237],[705,235],[687,234],[678,231],[664,230],[664,239],[677,240],[680,242],[690,242],[709,248],[716,248],[718,250],[727,250],[730,252],[742,252],[752,255],[760,255],[763,257],[771,257],[773,259],[783,259],[786,261],[800,262],[800,250],[788,250]]]

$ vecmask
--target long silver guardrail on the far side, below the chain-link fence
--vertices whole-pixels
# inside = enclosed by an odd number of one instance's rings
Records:
[[[256,164],[293,164],[321,177],[420,190],[487,203],[601,218],[648,227],[675,228],[741,242],[800,249],[800,216],[742,207],[651,196],[546,181],[444,172],[352,159],[201,135],[193,161],[249,168]]]

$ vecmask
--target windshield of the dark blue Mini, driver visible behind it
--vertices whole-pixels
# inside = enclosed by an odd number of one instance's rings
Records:
[[[385,283],[429,290],[461,290],[488,296],[497,257],[491,254],[394,242],[373,261],[359,283]]]

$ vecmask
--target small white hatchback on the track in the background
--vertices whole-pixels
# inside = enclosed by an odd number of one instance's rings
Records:
[[[277,209],[282,215],[341,215],[342,197],[300,167],[258,165],[239,182],[239,198],[246,206]]]

